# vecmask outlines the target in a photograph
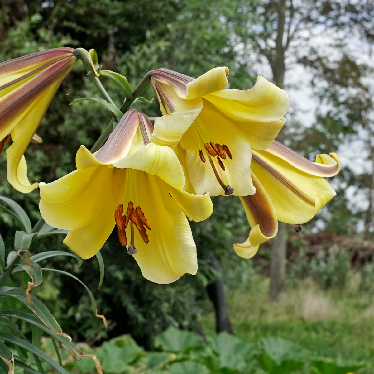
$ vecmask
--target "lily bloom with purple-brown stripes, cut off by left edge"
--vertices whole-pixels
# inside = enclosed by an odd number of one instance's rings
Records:
[[[23,193],[38,186],[27,178],[25,150],[50,101],[76,57],[72,48],[55,48],[0,64],[0,150],[7,148],[7,178]]]

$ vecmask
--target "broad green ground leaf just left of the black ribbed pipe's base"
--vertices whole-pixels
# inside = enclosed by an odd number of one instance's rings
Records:
[[[156,337],[154,346],[167,352],[189,352],[203,347],[204,342],[202,337],[192,332],[178,330],[171,326]]]

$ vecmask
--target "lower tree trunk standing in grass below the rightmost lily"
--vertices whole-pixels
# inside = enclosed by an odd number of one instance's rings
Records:
[[[278,234],[272,245],[270,259],[270,292],[271,300],[278,300],[283,291],[286,276],[287,226],[279,223]]]

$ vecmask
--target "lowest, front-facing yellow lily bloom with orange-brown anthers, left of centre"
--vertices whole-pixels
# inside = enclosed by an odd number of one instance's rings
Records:
[[[117,225],[145,278],[170,283],[196,274],[196,246],[186,215],[202,221],[208,194],[183,191],[184,174],[171,148],[149,143],[147,117],[127,112],[102,148],[77,152],[77,170],[40,183],[40,212],[53,227],[70,230],[64,243],[82,258],[98,252]]]

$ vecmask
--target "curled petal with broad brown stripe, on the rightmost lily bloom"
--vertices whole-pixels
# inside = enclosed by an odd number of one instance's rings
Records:
[[[274,237],[278,232],[278,220],[272,200],[254,174],[252,174],[252,181],[256,193],[251,196],[240,196],[252,229],[244,243],[234,244],[234,251],[243,258],[253,257],[258,246]]]

